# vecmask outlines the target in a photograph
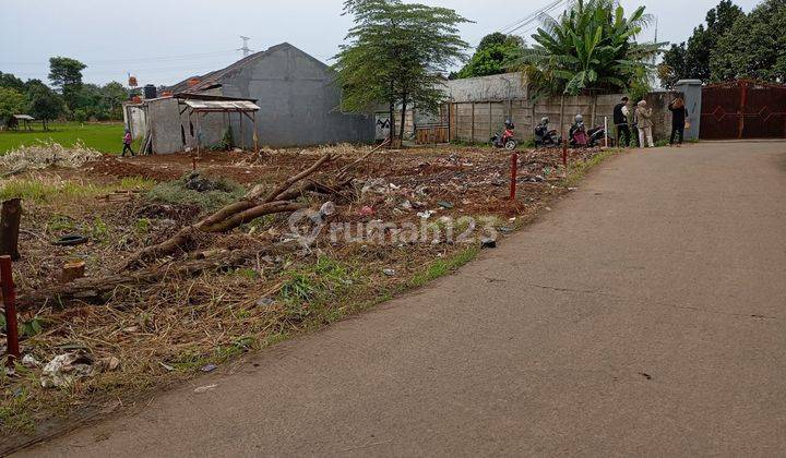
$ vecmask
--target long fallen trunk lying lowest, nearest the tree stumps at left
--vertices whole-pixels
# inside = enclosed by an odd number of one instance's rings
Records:
[[[203,272],[219,270],[241,265],[258,256],[291,253],[300,248],[289,243],[264,249],[235,250],[231,252],[214,252],[212,257],[202,257],[140,269],[134,273],[110,275],[97,278],[78,278],[70,284],[38,289],[20,296],[17,304],[21,310],[31,310],[44,305],[62,308],[68,302],[81,300],[85,302],[106,301],[108,296],[120,287],[140,287],[152,285],[167,277],[192,277]]]

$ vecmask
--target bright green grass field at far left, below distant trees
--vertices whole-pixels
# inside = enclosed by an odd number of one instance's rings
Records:
[[[50,138],[63,146],[71,146],[81,140],[86,146],[102,153],[119,154],[122,150],[122,122],[51,123],[48,132],[44,132],[40,124],[35,124],[34,129],[34,131],[0,132],[0,155],[15,149],[20,145],[29,145],[38,140],[47,141]],[[133,149],[139,150],[139,146],[140,141],[134,142]]]

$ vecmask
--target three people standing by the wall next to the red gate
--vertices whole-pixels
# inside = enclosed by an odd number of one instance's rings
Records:
[[[639,131],[640,147],[655,147],[652,134],[652,108],[647,107],[646,100],[641,100],[636,104],[631,119],[629,101],[630,99],[628,97],[622,97],[622,100],[617,104],[614,109],[614,123],[617,129],[617,145],[631,146],[632,126]],[[668,109],[671,111],[671,138],[669,141],[669,145],[681,146],[684,137],[686,120],[688,118],[688,110],[686,109],[682,97],[676,97],[671,100]],[[623,141],[624,143],[622,143]]]

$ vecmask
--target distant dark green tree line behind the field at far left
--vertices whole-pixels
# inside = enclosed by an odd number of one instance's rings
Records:
[[[56,119],[73,121],[109,121],[122,119],[122,103],[129,92],[122,84],[103,86],[85,84],[82,71],[87,67],[74,59],[49,59],[50,87],[40,80],[22,81],[0,72],[0,123],[8,124],[13,114],[29,114],[47,123]]]

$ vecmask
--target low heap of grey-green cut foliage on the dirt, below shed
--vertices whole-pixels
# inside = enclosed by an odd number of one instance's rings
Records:
[[[175,205],[196,205],[203,212],[217,210],[229,205],[246,194],[246,189],[226,178],[215,181],[213,191],[199,192],[186,188],[190,173],[179,180],[156,184],[147,192],[147,198],[154,202]]]

